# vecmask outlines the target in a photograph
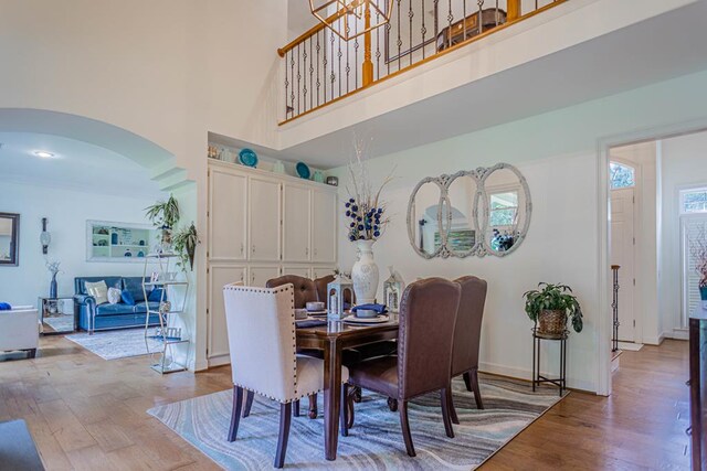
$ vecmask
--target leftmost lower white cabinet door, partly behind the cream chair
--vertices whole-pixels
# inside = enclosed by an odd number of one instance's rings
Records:
[[[229,354],[223,287],[236,281],[245,282],[245,267],[234,265],[211,265],[209,267],[208,358]]]

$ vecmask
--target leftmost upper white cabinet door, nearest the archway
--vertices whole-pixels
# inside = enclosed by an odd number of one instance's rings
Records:
[[[244,260],[247,178],[217,169],[209,175],[209,259]]]

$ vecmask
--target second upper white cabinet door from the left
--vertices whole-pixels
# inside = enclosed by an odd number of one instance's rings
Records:
[[[249,188],[249,259],[279,261],[281,184],[273,180],[251,178]]]

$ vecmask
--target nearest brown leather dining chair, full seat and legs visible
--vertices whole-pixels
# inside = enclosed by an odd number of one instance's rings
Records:
[[[449,410],[452,367],[452,340],[460,304],[461,287],[443,278],[415,281],[405,289],[399,315],[398,355],[362,361],[350,366],[348,386],[360,386],[398,400],[405,449],[415,456],[408,402],[440,392],[446,436],[454,438]],[[351,405],[341,407],[341,433],[354,422]]]

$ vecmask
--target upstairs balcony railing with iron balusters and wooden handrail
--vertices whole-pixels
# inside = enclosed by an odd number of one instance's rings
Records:
[[[566,1],[393,0],[389,23],[348,42],[319,23],[277,51],[284,67],[281,124]],[[334,25],[342,21],[340,12],[331,18]],[[349,20],[352,35],[363,21]]]

